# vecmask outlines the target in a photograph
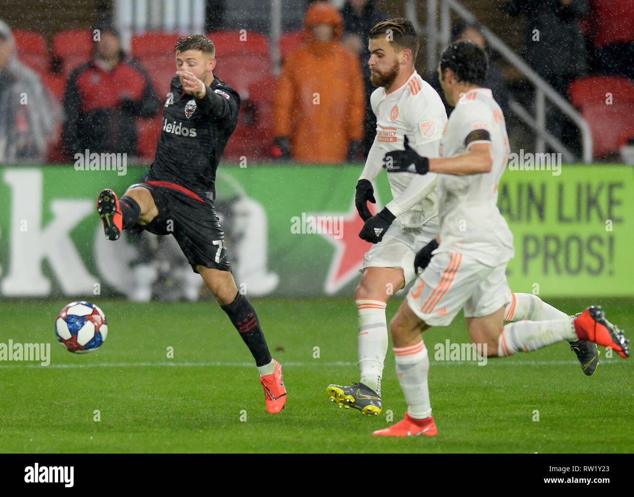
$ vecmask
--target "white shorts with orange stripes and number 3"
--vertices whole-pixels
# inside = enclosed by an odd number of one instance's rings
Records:
[[[451,324],[460,309],[465,318],[482,318],[511,301],[507,262],[491,268],[465,254],[441,252],[407,295],[410,309],[429,326]]]

